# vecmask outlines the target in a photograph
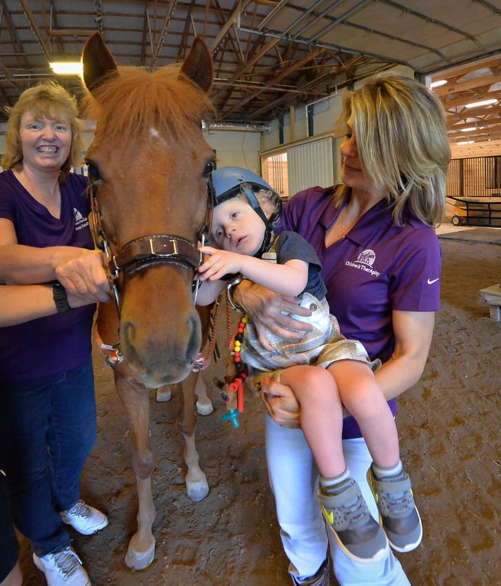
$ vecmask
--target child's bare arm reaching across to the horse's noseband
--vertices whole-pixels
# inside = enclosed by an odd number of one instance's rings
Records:
[[[214,281],[225,274],[240,272],[246,279],[285,296],[294,297],[305,290],[308,281],[308,263],[298,259],[277,265],[263,259],[256,259],[246,254],[236,254],[227,250],[219,250],[211,246],[203,246],[202,252],[209,255],[198,272],[201,280]]]

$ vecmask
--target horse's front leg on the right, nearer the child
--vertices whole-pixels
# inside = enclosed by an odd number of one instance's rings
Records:
[[[192,373],[181,383],[181,412],[178,418],[178,427],[186,442],[184,453],[185,463],[188,467],[185,477],[186,492],[192,501],[198,502],[209,494],[209,485],[205,474],[198,465],[198,452],[196,452],[195,445],[195,376],[197,375]]]

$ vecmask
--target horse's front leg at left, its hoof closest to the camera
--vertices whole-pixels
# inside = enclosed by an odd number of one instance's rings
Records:
[[[150,449],[150,397],[145,387],[133,382],[133,379],[120,376],[116,370],[114,372],[116,391],[130,424],[132,467],[136,474],[139,501],[137,531],[129,542],[125,565],[139,570],[148,567],[155,554],[155,538],[152,533],[156,517],[152,495],[155,462]]]

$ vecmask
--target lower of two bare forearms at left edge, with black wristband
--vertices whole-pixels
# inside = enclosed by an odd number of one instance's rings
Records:
[[[74,309],[89,301],[68,294],[68,304]],[[53,314],[57,308],[50,285],[0,285],[0,327]]]

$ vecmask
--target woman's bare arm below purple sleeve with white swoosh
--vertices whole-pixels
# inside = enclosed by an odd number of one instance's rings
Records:
[[[415,385],[425,370],[435,312],[393,311],[395,350],[376,371],[376,381],[389,401]]]

